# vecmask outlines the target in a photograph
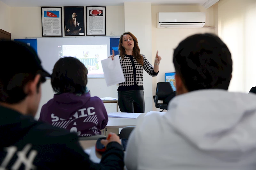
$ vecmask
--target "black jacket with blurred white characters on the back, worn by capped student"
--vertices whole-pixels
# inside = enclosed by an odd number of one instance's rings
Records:
[[[75,133],[0,107],[0,169],[123,169],[124,152],[111,142],[100,164],[89,159]]]

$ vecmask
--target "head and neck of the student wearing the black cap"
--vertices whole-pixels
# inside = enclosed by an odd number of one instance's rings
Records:
[[[35,116],[41,83],[50,74],[41,66],[35,50],[26,44],[0,40],[0,47],[0,105]]]

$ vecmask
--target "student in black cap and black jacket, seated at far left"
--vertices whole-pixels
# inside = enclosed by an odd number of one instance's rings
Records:
[[[99,164],[93,163],[75,133],[34,120],[41,84],[51,77],[35,50],[16,41],[0,40],[0,169],[123,169],[124,152],[112,133]]]

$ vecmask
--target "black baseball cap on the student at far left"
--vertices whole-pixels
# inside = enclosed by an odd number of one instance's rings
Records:
[[[36,51],[27,44],[0,40],[0,72],[5,78],[12,78],[19,73],[40,74],[42,77],[51,77],[41,65]]]

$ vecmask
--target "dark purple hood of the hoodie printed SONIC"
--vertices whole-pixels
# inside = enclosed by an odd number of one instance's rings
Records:
[[[74,115],[77,110],[83,107],[90,98],[89,93],[82,95],[73,93],[54,94],[53,99],[49,100],[46,106],[51,106],[52,112],[56,116],[62,119],[68,119]]]

